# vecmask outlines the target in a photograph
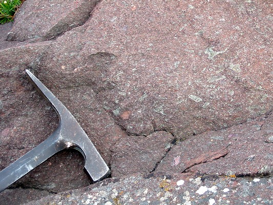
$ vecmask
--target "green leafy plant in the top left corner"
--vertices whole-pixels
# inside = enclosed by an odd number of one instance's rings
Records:
[[[0,24],[11,22],[22,3],[21,0],[0,0]]]

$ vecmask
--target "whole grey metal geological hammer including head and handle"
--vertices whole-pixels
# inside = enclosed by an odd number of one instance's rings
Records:
[[[0,172],[0,192],[40,165],[40,163],[57,152],[68,148],[74,148],[83,155],[85,170],[93,182],[107,177],[110,174],[110,169],[75,117],[38,78],[29,70],[26,70],[26,73],[31,84],[49,101],[56,111],[59,117],[59,125],[45,141]]]

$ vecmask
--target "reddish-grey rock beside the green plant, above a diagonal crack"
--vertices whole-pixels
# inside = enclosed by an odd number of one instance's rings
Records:
[[[27,0],[7,40],[46,40],[83,25],[99,0]]]

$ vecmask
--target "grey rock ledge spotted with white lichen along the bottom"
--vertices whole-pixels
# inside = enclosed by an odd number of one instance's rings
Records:
[[[27,204],[271,204],[272,189],[272,177],[132,176]]]

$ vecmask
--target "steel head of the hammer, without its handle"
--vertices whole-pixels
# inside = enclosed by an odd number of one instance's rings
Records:
[[[59,126],[48,138],[48,140],[50,140],[49,143],[54,147],[58,147],[56,151],[66,148],[74,148],[80,151],[86,160],[85,169],[94,182],[107,177],[110,174],[110,169],[85,131],[80,127],[75,117],[29,70],[26,70],[26,73],[32,85],[49,101],[59,116]],[[54,155],[56,151],[53,149],[48,151],[44,150],[44,152],[51,152],[46,153],[46,155]],[[43,152],[43,150],[41,150],[41,152]]]

